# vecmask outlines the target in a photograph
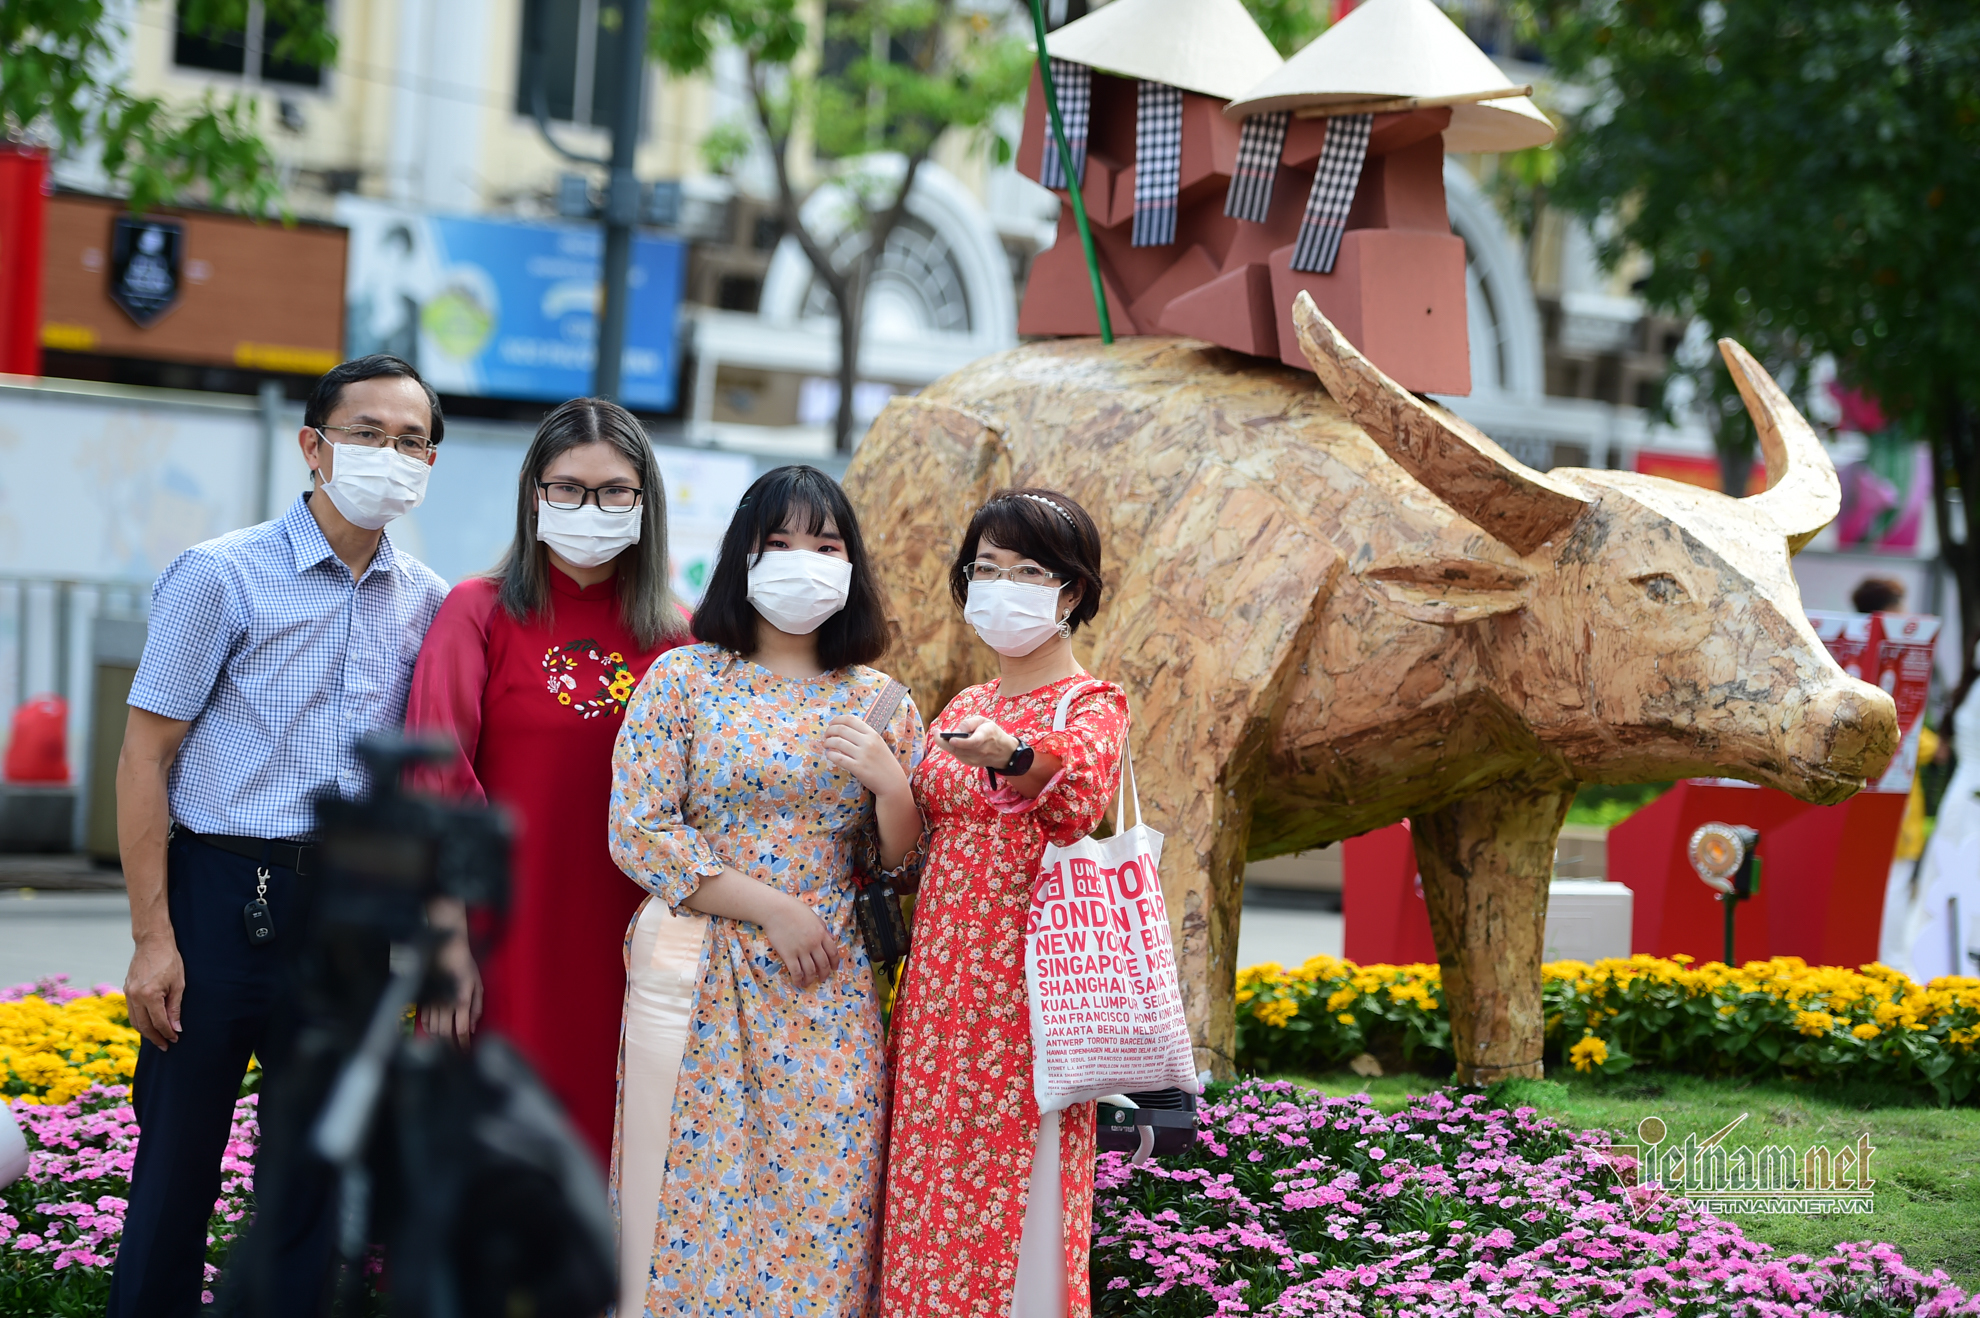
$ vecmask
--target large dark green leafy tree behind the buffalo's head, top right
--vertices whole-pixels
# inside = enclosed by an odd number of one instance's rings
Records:
[[[1980,4],[1533,0],[1570,117],[1556,204],[1608,216],[1651,305],[1744,340],[1806,388],[1843,380],[1932,447],[1938,540],[1980,639]],[[1723,368],[1721,455],[1752,431]]]

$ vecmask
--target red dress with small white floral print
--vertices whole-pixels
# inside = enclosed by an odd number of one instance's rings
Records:
[[[1059,697],[1073,697],[1053,732]],[[1075,675],[1002,701],[998,683],[962,691],[935,720],[968,714],[1059,756],[1036,800],[992,788],[984,770],[929,754],[915,800],[929,857],[915,898],[915,938],[893,1015],[881,1314],[1006,1318],[1018,1280],[1026,1187],[1038,1144],[1024,920],[1045,843],[1079,841],[1113,800],[1127,744],[1127,695]],[[933,742],[931,742],[933,744]],[[1091,1312],[1093,1104],[1059,1124],[1067,1316]]]

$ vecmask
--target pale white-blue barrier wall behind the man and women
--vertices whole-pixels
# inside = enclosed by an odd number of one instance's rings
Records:
[[[14,705],[65,695],[69,768],[85,778],[93,619],[143,615],[180,552],[279,517],[309,487],[301,425],[301,404],[281,400],[0,378],[0,746]],[[426,503],[392,524],[394,542],[449,582],[491,568],[515,534],[533,431],[449,422]],[[655,457],[675,588],[695,602],[742,491],[782,459],[669,445]]]

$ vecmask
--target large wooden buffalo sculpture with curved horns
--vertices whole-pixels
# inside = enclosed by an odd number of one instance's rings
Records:
[[[1408,817],[1465,1083],[1540,1075],[1540,934],[1580,782],[1725,774],[1837,801],[1891,697],[1816,639],[1788,556],[1835,517],[1814,431],[1721,344],[1768,489],[1523,467],[1311,299],[1313,376],[1190,338],[1034,342],[895,400],[845,487],[933,714],[994,675],[944,572],[978,503],[1101,526],[1083,663],[1127,687],[1198,1057],[1228,1073],[1241,875]],[[1790,877],[1782,881],[1792,883]]]

